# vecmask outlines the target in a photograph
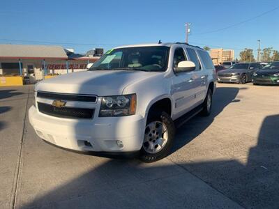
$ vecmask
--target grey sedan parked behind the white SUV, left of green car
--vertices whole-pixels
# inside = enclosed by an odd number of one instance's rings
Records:
[[[246,84],[259,69],[262,69],[259,63],[236,63],[229,69],[218,72],[218,82]]]

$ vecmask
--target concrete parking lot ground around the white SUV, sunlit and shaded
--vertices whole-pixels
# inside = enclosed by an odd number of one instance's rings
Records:
[[[279,88],[218,84],[213,112],[159,162],[81,155],[40,140],[33,86],[0,88],[0,208],[278,208]]]

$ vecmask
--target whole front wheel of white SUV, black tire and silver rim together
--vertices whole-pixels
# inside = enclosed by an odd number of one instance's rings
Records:
[[[166,157],[172,148],[174,134],[174,121],[167,113],[151,112],[146,122],[140,160],[150,163]]]

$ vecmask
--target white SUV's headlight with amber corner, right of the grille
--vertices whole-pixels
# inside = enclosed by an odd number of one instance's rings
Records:
[[[103,97],[99,117],[134,115],[136,107],[137,96],[135,94]]]

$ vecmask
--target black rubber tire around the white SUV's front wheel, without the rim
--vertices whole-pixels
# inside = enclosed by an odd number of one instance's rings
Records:
[[[146,125],[152,123],[153,121],[160,121],[165,125],[165,127],[167,128],[168,137],[165,146],[163,146],[163,148],[160,151],[158,151],[158,153],[146,152],[146,150],[144,150],[143,147],[144,144],[142,144],[142,149],[140,150],[140,160],[146,163],[156,162],[166,157],[170,153],[174,141],[174,135],[175,135],[174,121],[172,121],[172,118],[167,113],[165,113],[164,111],[149,113],[149,117],[147,118]]]

